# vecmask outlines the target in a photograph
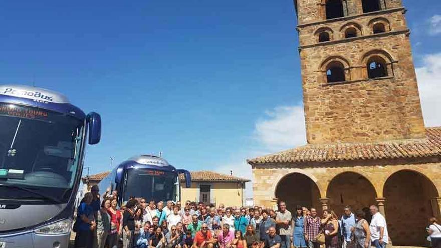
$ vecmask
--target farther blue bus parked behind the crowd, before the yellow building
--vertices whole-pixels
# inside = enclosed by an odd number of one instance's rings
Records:
[[[180,200],[179,174],[185,175],[185,186],[190,187],[190,172],[176,169],[161,157],[142,155],[118,165],[99,188],[117,190],[120,204],[130,197],[176,202]]]

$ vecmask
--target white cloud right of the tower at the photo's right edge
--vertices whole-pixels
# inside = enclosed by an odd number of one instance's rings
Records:
[[[441,53],[426,55],[423,62],[416,68],[416,76],[424,122],[426,126],[441,126]]]

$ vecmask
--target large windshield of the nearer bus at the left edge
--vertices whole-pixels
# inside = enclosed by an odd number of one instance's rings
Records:
[[[67,202],[77,174],[83,122],[0,103],[0,126],[0,200]]]

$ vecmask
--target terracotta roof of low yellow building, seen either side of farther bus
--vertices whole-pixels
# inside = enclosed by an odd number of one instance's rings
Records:
[[[110,172],[102,172],[95,175],[89,175],[89,181],[101,181],[104,177],[106,177]],[[250,180],[245,178],[240,178],[236,176],[230,176],[225,174],[220,174],[212,171],[191,171],[191,181],[199,181],[199,182],[249,182]],[[83,181],[85,181],[85,177],[83,177]],[[179,176],[181,181],[185,180],[184,175],[181,174]]]

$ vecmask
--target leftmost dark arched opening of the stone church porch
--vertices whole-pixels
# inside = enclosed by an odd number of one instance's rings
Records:
[[[278,201],[286,202],[291,212],[297,205],[319,209],[321,193],[316,181],[305,173],[290,172],[277,180],[273,192]]]

